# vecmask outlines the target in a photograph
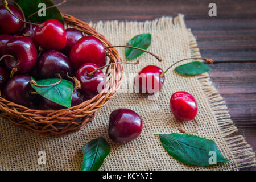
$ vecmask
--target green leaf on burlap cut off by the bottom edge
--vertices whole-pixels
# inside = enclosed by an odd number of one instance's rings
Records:
[[[97,171],[106,156],[110,153],[109,144],[102,137],[94,139],[82,147],[84,160],[82,162],[81,171]]]

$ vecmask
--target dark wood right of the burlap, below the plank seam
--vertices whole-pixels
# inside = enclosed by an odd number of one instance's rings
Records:
[[[256,150],[256,63],[210,65],[210,79],[224,97],[238,133]],[[243,170],[256,170],[255,167]]]

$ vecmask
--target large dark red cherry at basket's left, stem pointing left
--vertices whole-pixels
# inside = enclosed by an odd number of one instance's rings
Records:
[[[13,57],[5,57],[3,62],[8,69],[17,68],[16,73],[27,73],[36,64],[38,53],[30,38],[26,36],[17,36],[9,40],[3,49],[3,55],[12,55]]]

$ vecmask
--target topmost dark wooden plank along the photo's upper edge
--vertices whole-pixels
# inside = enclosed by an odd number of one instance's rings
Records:
[[[148,0],[69,0],[60,9],[64,13],[75,15],[82,20],[147,20],[160,16],[186,15],[187,19],[203,19],[208,16],[210,0],[200,1],[148,1]],[[217,5],[217,18],[255,18],[256,2],[250,1],[214,1]]]

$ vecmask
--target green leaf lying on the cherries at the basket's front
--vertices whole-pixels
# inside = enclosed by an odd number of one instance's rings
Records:
[[[38,85],[50,85],[60,81],[59,78],[36,81],[33,77],[31,77],[31,80],[34,80]],[[73,84],[71,81],[63,79],[59,84],[54,86],[36,87],[32,85],[32,87],[41,96],[48,98],[48,100],[56,102],[64,107],[71,107],[71,98],[73,93]]]

